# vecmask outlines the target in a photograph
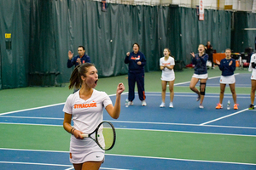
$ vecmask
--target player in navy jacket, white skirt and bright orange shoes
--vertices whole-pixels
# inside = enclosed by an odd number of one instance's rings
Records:
[[[236,78],[234,76],[234,71],[236,71],[236,60],[231,58],[231,49],[227,48],[225,50],[226,57],[224,59],[221,59],[219,62],[216,59],[216,64],[218,65],[218,68],[221,73],[221,77],[219,79],[220,83],[220,94],[219,94],[219,102],[216,106],[216,109],[222,109],[223,105],[223,99],[224,99],[224,91],[226,88],[226,84],[230,85],[230,91],[232,93],[232,97],[234,100],[234,109],[238,109],[238,105],[236,104]]]

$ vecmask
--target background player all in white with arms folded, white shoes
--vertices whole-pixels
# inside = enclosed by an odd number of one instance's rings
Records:
[[[171,57],[171,50],[169,48],[164,49],[164,57],[160,58],[160,70],[162,71],[161,84],[162,84],[162,103],[160,107],[166,107],[166,86],[169,83],[170,90],[170,104],[169,107],[173,108],[173,85],[175,81],[175,74],[173,67],[175,65],[174,58]]]

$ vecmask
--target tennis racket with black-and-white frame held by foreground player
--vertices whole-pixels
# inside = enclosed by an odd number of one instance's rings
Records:
[[[92,133],[82,136],[93,139],[102,150],[111,150],[115,143],[115,130],[111,122],[101,122]]]

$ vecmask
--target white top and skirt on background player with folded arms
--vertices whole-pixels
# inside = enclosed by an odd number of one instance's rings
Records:
[[[160,66],[164,66],[164,65],[167,65],[167,66],[175,65],[175,61],[171,56],[169,56],[169,59],[167,60],[165,59],[165,57],[162,57],[160,58]],[[170,70],[168,68],[165,68],[164,70],[162,70],[161,80],[168,81],[168,82],[175,80],[175,74],[173,69]]]

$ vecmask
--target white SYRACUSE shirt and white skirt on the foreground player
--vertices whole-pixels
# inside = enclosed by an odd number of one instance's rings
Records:
[[[84,100],[79,97],[79,91],[70,94],[64,105],[63,111],[73,116],[73,127],[83,133],[92,133],[103,120],[103,109],[112,104],[111,99],[105,92],[93,89],[90,99]],[[85,161],[102,161],[104,150],[90,138],[70,138],[70,162],[84,163]]]

